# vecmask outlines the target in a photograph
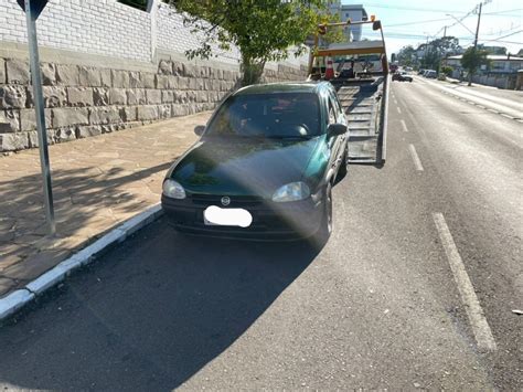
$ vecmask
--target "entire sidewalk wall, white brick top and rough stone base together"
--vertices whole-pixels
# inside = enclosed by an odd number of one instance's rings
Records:
[[[213,109],[237,86],[239,52],[183,53],[201,36],[154,0],[143,12],[116,0],[50,0],[38,20],[51,144]],[[38,146],[24,13],[0,0],[0,152]],[[306,57],[268,63],[264,82],[302,81]]]

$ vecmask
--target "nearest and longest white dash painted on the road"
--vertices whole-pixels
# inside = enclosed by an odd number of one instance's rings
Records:
[[[447,222],[445,222],[444,214],[440,212],[433,213],[433,219],[434,223],[436,223],[436,229],[438,230],[445,253],[447,254],[453,278],[458,285],[458,290],[467,310],[467,316],[469,317],[476,341],[478,342],[478,348],[480,350],[495,351],[497,346],[494,337],[492,336],[483,309],[476,296],[467,269],[465,269],[463,261],[461,259],[458,248],[452,240],[452,234],[450,234]]]

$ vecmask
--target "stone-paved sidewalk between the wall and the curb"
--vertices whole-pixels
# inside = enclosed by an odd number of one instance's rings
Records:
[[[0,157],[0,298],[157,204],[167,169],[210,115],[51,146],[55,237],[45,235],[39,151]]]

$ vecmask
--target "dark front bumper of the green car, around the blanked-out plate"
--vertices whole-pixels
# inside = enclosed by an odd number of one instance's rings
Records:
[[[242,208],[253,216],[248,227],[207,225],[203,213],[210,205],[224,208],[214,198],[204,200],[188,195],[183,200],[162,195],[161,204],[169,224],[192,234],[253,240],[299,240],[313,235],[320,227],[323,202],[308,198],[302,201],[275,203],[273,201],[235,201],[227,208]]]

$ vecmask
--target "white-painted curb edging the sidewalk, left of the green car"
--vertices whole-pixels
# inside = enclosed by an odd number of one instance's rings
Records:
[[[49,288],[64,280],[73,271],[92,263],[96,256],[108,251],[114,245],[124,242],[128,236],[138,230],[154,222],[163,215],[160,204],[156,204],[140,212],[138,215],[127,220],[116,229],[111,230],[103,237],[96,240],[89,246],[73,254],[67,259],[57,264],[36,279],[32,280],[25,287],[19,288],[8,296],[0,299],[0,321],[4,320],[15,311],[20,310],[38,296],[42,295]]]

